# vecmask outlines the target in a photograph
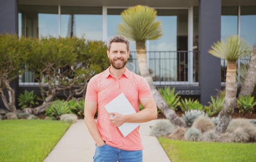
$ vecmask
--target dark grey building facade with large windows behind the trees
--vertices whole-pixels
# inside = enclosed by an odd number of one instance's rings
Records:
[[[137,4],[155,8],[162,22],[162,38],[146,42],[155,85],[175,87],[180,95],[198,98],[205,105],[225,85],[226,62],[207,52],[211,45],[232,34],[250,44],[256,39],[255,0],[1,0],[0,33],[84,36],[106,42],[116,34],[120,13]],[[127,67],[139,73],[135,49],[131,41]],[[247,62],[239,61],[238,67],[243,63]],[[39,91],[36,85],[29,71],[12,83],[16,95],[25,89]]]

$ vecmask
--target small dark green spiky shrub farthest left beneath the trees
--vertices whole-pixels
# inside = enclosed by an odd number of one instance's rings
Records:
[[[25,90],[24,94],[20,94],[18,96],[18,105],[21,106],[21,109],[33,107],[34,105],[38,104],[37,100],[38,96],[34,93],[34,90],[30,92]]]

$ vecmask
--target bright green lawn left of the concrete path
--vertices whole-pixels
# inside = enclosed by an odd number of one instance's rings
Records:
[[[56,120],[0,120],[0,161],[42,162],[69,126]]]

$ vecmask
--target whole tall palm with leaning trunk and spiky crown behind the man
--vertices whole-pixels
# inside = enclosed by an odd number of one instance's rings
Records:
[[[146,40],[156,40],[162,36],[162,24],[160,21],[155,20],[156,16],[157,11],[148,6],[137,5],[129,7],[121,13],[123,22],[118,24],[117,33],[130,40],[135,40],[139,72],[147,80],[157,107],[173,124],[186,127],[186,124],[180,120],[175,111],[169,108],[164,98],[155,88],[153,78],[150,76],[148,69],[145,42]]]

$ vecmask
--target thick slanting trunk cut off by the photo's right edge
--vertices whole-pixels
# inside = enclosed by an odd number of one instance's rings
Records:
[[[251,54],[247,75],[245,77],[244,83],[239,93],[239,98],[241,95],[247,96],[249,94],[252,94],[254,91],[255,85],[256,85],[256,40],[254,43],[253,52]]]

